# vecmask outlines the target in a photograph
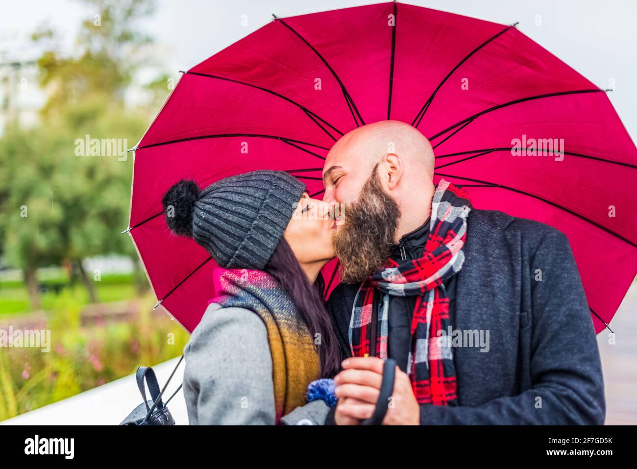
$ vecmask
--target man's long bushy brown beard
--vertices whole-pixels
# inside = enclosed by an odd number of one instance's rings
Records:
[[[400,218],[396,201],[380,184],[378,164],[359,199],[345,208],[345,220],[334,234],[334,253],[340,261],[341,282],[355,284],[385,266]]]

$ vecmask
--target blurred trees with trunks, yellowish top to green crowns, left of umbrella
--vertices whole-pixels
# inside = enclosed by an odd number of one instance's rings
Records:
[[[12,127],[0,139],[0,208],[7,214],[0,219],[0,245],[8,263],[24,271],[33,308],[39,307],[38,266],[75,264],[97,301],[97,278],[84,270],[83,259],[119,253],[138,263],[128,236],[119,235],[131,191],[132,157],[124,145],[134,146],[151,115],[127,106],[125,96],[150,44],[138,22],[154,2],[83,3],[96,13],[83,22],[72,55],[62,54],[54,31],[32,35],[44,50],[39,80],[48,99],[41,123]],[[91,152],[83,143],[91,139],[108,145]],[[113,154],[115,148],[123,151]]]

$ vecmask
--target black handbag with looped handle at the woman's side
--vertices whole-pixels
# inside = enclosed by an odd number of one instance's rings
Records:
[[[136,379],[137,386],[140,388],[141,397],[143,403],[134,408],[134,410],[120,423],[120,425],[175,425],[175,419],[168,410],[169,401],[182,389],[182,384],[179,385],[175,393],[168,398],[166,403],[163,403],[161,396],[166,391],[166,386],[173,378],[177,367],[182,363],[183,355],[179,359],[175,370],[171,373],[168,381],[164,384],[164,388],[159,390],[159,383],[157,382],[157,376],[150,366],[140,366],[137,369]],[[146,387],[144,382],[148,384],[148,391],[150,392],[150,400],[146,400]]]

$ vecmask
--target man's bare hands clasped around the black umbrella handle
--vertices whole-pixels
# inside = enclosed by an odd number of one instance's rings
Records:
[[[338,397],[334,418],[345,422],[368,419],[374,412],[383,379],[383,364],[378,357],[353,357],[343,361],[343,371],[334,377]],[[383,425],[419,425],[420,407],[412,391],[407,373],[396,367],[394,392]],[[338,423],[338,420],[336,420]]]

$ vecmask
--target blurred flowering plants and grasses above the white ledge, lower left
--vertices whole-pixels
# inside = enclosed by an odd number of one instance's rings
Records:
[[[70,292],[61,294],[45,325],[50,352],[0,353],[0,421],[180,356],[188,333],[168,315],[153,315],[153,303],[147,296],[132,321],[83,327],[80,305]]]

